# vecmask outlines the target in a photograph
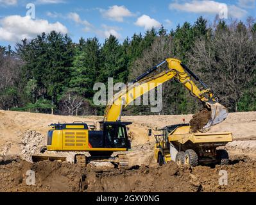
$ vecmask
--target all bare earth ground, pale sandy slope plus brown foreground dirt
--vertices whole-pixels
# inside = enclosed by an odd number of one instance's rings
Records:
[[[67,117],[0,111],[0,192],[256,192],[256,112],[230,113],[208,132],[230,131],[234,142],[226,149],[228,166],[178,168],[171,162],[158,167],[153,159],[155,139],[147,129],[180,124],[192,115],[126,116],[132,121],[130,168],[82,168],[71,163],[30,163],[28,155],[46,143],[52,122],[101,120],[101,117]],[[26,160],[26,161],[25,161]],[[26,185],[26,170],[35,170],[36,185]],[[219,170],[228,172],[228,185],[220,186]],[[124,186],[125,184],[125,186]]]

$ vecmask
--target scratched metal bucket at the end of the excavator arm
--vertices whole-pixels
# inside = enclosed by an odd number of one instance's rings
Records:
[[[207,103],[207,105],[210,106],[212,113],[209,122],[203,127],[203,129],[219,124],[228,116],[228,110],[218,102],[214,104]]]

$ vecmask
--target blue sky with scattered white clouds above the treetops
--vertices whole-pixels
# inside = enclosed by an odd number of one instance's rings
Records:
[[[32,13],[26,16],[28,3],[35,5],[35,18]],[[175,29],[200,15],[213,20],[221,11],[228,18],[246,20],[256,17],[255,5],[256,0],[0,0],[0,45],[15,45],[52,29],[68,33],[74,42],[95,36],[103,42],[110,33],[123,41],[152,26]]]

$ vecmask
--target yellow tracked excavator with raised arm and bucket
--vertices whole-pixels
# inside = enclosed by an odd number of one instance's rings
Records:
[[[168,69],[158,74],[153,74],[158,68],[167,63]],[[200,90],[192,81],[194,78],[202,86]],[[211,111],[209,122],[203,128],[218,124],[226,119],[228,111],[214,98],[211,89],[187,68],[180,60],[168,58],[157,66],[147,70],[113,96],[105,108],[104,119],[101,122],[73,122],[69,124],[51,124],[47,134],[47,151],[74,151],[74,163],[87,164],[90,161],[111,161],[123,167],[128,165],[124,154],[112,156],[113,152],[128,151],[130,140],[126,126],[132,122],[122,122],[122,110],[141,95],[156,88],[158,85],[176,78],[192,96],[203,102]],[[90,156],[79,154],[89,152]],[[62,157],[44,156],[43,154],[32,156],[33,161],[39,160],[65,160]]]

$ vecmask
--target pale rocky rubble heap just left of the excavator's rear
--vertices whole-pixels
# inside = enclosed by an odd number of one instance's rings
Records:
[[[39,153],[42,146],[44,146],[44,136],[40,132],[25,131],[21,137],[21,158],[32,162],[31,155]]]

